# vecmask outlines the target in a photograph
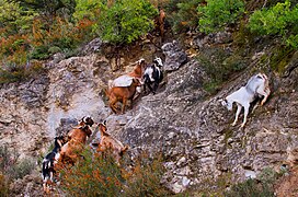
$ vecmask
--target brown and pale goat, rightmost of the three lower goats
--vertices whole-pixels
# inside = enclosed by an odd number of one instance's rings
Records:
[[[112,155],[115,158],[117,164],[119,164],[119,160],[129,148],[128,146],[124,146],[119,140],[113,138],[110,134],[106,132],[106,121],[99,124],[99,130],[101,131],[101,140],[98,144],[98,152],[104,152],[106,150],[112,151]]]

